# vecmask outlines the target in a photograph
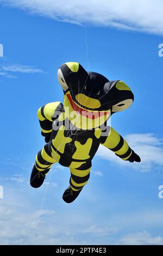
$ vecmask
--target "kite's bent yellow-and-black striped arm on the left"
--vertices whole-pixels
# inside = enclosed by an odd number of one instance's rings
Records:
[[[51,132],[53,130],[52,124],[55,120],[54,112],[62,110],[62,103],[51,102],[39,108],[37,111],[37,116],[39,118],[40,126],[41,126],[41,135],[49,138],[51,136]],[[48,139],[47,139],[48,141]]]

